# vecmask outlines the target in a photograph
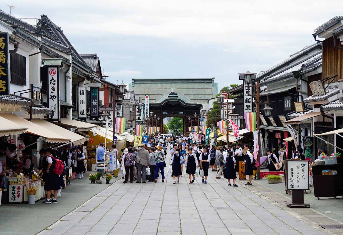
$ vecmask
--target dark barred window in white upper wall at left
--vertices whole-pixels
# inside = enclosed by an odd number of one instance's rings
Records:
[[[11,53],[11,82],[26,85],[26,57]]]

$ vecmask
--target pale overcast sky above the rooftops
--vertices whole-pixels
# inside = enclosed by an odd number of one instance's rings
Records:
[[[50,3],[51,2],[51,3]],[[280,3],[279,3],[280,2]],[[1,5],[2,4],[2,5]],[[12,15],[47,15],[80,54],[97,53],[109,81],[131,78],[215,78],[267,70],[313,44],[313,30],[341,1],[2,1]],[[35,20],[27,20],[34,23]]]

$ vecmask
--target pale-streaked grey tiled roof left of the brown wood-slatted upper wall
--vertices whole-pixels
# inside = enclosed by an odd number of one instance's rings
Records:
[[[302,68],[305,69],[308,66],[314,64],[315,62],[321,59],[322,59],[322,51],[315,53],[314,55],[307,56],[304,59],[302,59],[300,63],[296,65],[287,66],[283,70],[280,70],[276,73],[272,73],[270,75],[272,77],[268,78],[268,80],[265,80],[264,82],[261,82],[260,85],[264,86],[264,85],[268,85],[276,81],[281,81],[286,78],[291,78],[293,77],[293,73],[292,73],[293,71],[301,70]]]

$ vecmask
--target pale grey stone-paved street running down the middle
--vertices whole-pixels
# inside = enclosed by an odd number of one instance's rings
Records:
[[[241,184],[227,186],[212,171],[208,184],[201,177],[188,184],[184,174],[174,185],[167,168],[165,174],[165,183],[119,180],[40,234],[325,234]]]

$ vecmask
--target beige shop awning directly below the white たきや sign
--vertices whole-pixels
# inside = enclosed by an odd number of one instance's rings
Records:
[[[83,142],[87,141],[87,137],[71,132],[70,130],[64,129],[63,127],[55,125],[54,123],[48,122],[46,120],[32,119],[31,122],[44,128],[47,128],[61,136],[66,136],[70,138],[70,141],[72,141],[74,145],[80,145],[83,144]]]

